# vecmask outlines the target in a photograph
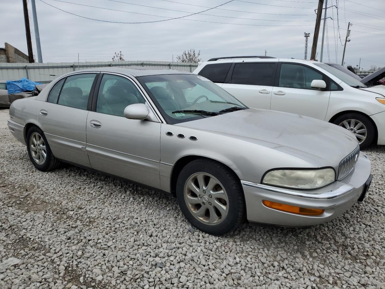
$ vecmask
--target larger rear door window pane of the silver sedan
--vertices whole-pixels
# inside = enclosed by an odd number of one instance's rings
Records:
[[[85,73],[67,77],[57,103],[71,108],[87,109],[95,76],[95,73]]]

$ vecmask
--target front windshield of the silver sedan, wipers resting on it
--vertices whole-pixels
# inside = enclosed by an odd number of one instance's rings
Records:
[[[162,74],[137,79],[170,124],[248,108],[203,76]]]

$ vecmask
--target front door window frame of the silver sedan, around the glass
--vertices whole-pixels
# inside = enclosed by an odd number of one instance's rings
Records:
[[[159,123],[165,123],[164,119],[159,117],[161,114],[159,113],[159,111],[156,109],[154,103],[152,102],[152,99],[151,97],[149,97],[147,94],[143,93],[143,90],[142,90],[142,87],[139,86],[136,81],[134,81],[134,79],[132,79],[131,77],[125,75],[125,74],[119,74],[119,73],[115,73],[115,72],[100,72],[99,74],[99,78],[97,80],[97,83],[95,83],[95,89],[93,91],[93,94],[92,94],[92,99],[91,99],[91,108],[90,108],[90,111],[93,111],[95,113],[99,113],[96,111],[96,103],[97,103],[97,96],[99,94],[99,89],[100,89],[100,83],[102,82],[102,78],[105,74],[109,74],[109,75],[115,75],[115,76],[119,76],[119,77],[123,77],[125,79],[128,79],[128,81],[131,81],[132,84],[134,84],[134,86],[136,87],[136,89],[139,91],[139,93],[141,94],[141,96],[144,98],[144,100],[148,103],[148,106],[149,108],[152,110],[152,113],[154,113],[154,115],[156,116],[157,120]],[[135,79],[136,80],[136,79]],[[105,113],[101,113],[101,114],[105,114]],[[109,114],[111,116],[115,116],[115,115],[112,115],[112,114]],[[122,117],[122,116],[117,116],[117,117]]]

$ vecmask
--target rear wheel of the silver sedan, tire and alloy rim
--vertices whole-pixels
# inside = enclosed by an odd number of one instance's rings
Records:
[[[40,140],[38,141],[38,145],[36,145],[37,140]],[[28,156],[32,164],[38,170],[50,171],[54,170],[60,165],[61,162],[52,154],[52,151],[50,150],[49,144],[47,142],[47,139],[45,138],[43,131],[37,126],[32,126],[30,129],[28,129],[26,143]]]

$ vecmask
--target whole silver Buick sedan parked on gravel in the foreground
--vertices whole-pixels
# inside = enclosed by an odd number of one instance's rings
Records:
[[[10,107],[8,127],[41,171],[72,163],[177,198],[198,229],[303,227],[361,202],[372,175],[352,133],[251,109],[205,77],[97,68],[57,78]]]

